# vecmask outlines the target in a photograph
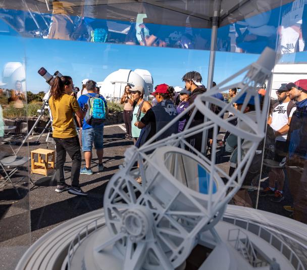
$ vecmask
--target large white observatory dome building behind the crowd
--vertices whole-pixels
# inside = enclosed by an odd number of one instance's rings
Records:
[[[119,69],[108,75],[104,81],[97,82],[100,94],[111,99],[120,99],[125,86],[141,85],[145,89],[145,97],[152,92],[154,80],[148,70],[145,69]]]

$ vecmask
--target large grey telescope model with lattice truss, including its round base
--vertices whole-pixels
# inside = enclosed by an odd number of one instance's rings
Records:
[[[174,119],[191,113],[182,132],[157,141],[163,138],[161,134],[172,121],[139,149],[129,148],[123,166],[107,186],[104,215],[94,211],[61,224],[28,250],[19,269],[30,269],[33,265],[45,269],[55,265],[61,269],[68,266],[91,270],[184,269],[196,245],[210,250],[210,254],[203,254],[199,269],[305,269],[296,252],[279,238],[282,235],[292,241],[290,230],[276,233],[265,227],[263,223],[268,219],[261,218],[265,212],[259,215],[259,210],[245,211],[244,207],[236,206],[230,206],[235,208],[231,215],[229,206],[225,212],[265,136],[269,95],[261,104],[256,87],[269,78],[275,59],[275,53],[266,49],[257,62],[197,97],[192,106]],[[244,72],[241,82],[229,83]],[[241,92],[229,104],[212,97],[235,86]],[[236,110],[233,104],[243,95],[244,103]],[[251,97],[255,104],[253,117],[243,113]],[[208,103],[222,110],[215,114]],[[199,112],[206,116],[205,120],[191,126]],[[225,112],[233,117],[223,119]],[[237,125],[229,122],[234,118],[238,119]],[[237,166],[232,176],[216,164],[219,128],[237,137]],[[204,134],[203,138],[210,133],[213,139],[210,155],[200,153],[190,144],[190,139],[199,132]],[[134,167],[136,162],[138,168]],[[137,177],[141,177],[141,185],[135,181]],[[239,216],[234,217],[234,213]],[[252,221],[252,215],[257,216],[257,221]],[[291,228],[298,228],[295,221],[291,223]],[[68,237],[69,247],[68,240],[58,242],[60,235],[74,236]],[[301,250],[307,250],[303,241],[295,241]],[[64,248],[68,248],[68,254],[63,260]],[[41,254],[42,250],[48,258]]]

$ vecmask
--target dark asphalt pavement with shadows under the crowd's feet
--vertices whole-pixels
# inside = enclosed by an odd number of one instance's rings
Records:
[[[87,197],[70,195],[67,192],[58,194],[55,192],[56,182],[50,182],[50,178],[43,175],[30,174],[35,185],[29,185],[27,178],[22,185],[19,185],[17,195],[11,185],[7,185],[0,191],[0,269],[14,269],[18,260],[39,237],[52,230],[62,222],[70,218],[82,215],[92,210],[103,208],[104,191],[112,175],[118,171],[119,165],[123,163],[125,150],[133,145],[132,141],[124,139],[124,125],[105,126],[104,129],[104,164],[103,172],[98,172],[95,151],[93,154],[92,175],[80,175],[82,190],[88,193]],[[46,148],[46,135],[40,139],[39,144],[34,144],[37,137],[30,137],[29,147],[22,147],[19,156],[29,156],[29,152]],[[12,150],[8,144],[1,145],[0,153],[10,154]],[[14,149],[18,145],[13,146]],[[49,144],[48,149],[54,149],[53,144]],[[229,170],[229,153],[225,153],[223,147],[219,147],[216,163],[226,172]],[[82,166],[85,165],[84,158]],[[65,178],[70,184],[71,160],[69,156],[65,163]],[[28,171],[19,170],[13,181],[19,181],[23,176],[27,176]],[[30,189],[30,192],[29,192]],[[273,203],[271,197],[260,197],[258,208],[271,211],[281,215],[289,216],[283,210],[283,205],[291,204],[287,181],[284,189],[286,199],[281,203]],[[257,191],[249,193],[255,206]],[[103,211],[103,209],[101,209]]]

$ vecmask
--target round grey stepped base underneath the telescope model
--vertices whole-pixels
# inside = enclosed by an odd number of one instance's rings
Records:
[[[38,239],[16,269],[130,269],[125,267],[125,261],[114,246],[95,252],[97,243],[111,237],[105,221],[103,210],[99,209],[64,222]],[[198,252],[192,251],[178,269],[184,266],[188,269],[190,263],[194,269],[197,263],[200,263],[198,269],[269,270],[270,266],[281,270],[306,269],[303,254],[307,252],[307,226],[303,223],[261,210],[228,205],[215,230],[220,241],[217,243],[210,231],[203,232],[195,244]]]

